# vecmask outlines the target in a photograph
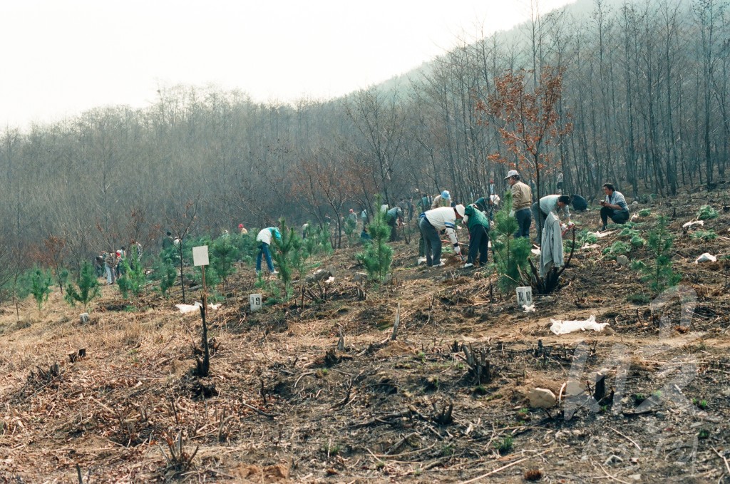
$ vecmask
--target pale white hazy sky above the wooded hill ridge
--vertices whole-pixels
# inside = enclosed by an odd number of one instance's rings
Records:
[[[529,18],[538,0],[0,0],[0,130],[159,86],[326,99]],[[570,0],[539,0],[539,11]]]

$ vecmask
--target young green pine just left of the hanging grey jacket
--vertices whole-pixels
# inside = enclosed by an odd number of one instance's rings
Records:
[[[494,228],[490,233],[494,249],[494,266],[499,276],[499,288],[512,291],[523,285],[523,274],[529,271],[530,240],[526,237],[515,238],[518,229],[517,219],[510,215],[512,193],[504,196],[504,205],[494,216]]]

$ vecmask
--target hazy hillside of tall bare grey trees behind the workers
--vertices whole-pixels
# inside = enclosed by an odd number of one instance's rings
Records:
[[[500,120],[477,110],[520,69],[527,88],[543,69],[561,73],[556,128],[570,129],[545,148],[541,193],[558,171],[566,191],[588,199],[606,181],[631,196],[712,186],[730,139],[726,7],[581,1],[345,99],[257,104],[183,85],[161,88],[143,110],[4,128],[0,257],[40,260],[50,237],[74,266],[133,238],[150,247],[186,206],[193,233],[218,234],[281,216],[336,225],[350,207],[371,208],[373,193],[394,204],[446,188],[472,201],[511,165],[531,177]]]

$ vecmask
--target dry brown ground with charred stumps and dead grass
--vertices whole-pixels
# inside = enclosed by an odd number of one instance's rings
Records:
[[[124,301],[104,287],[86,324],[58,291],[42,312],[20,304],[20,321],[6,304],[0,482],[730,482],[730,267],[694,264],[730,252],[729,198],[640,207],[652,211],[637,220],[643,237],[659,212],[672,218],[684,301],[633,296],[645,283],[602,256],[618,231],[577,251],[535,312],[486,271],[415,266],[404,242],[388,285],[355,283],[353,250],[341,250],[323,264],[336,268],[326,301],[296,293],[260,312],[244,268],[208,315],[217,350],[202,380],[191,376],[200,315],[177,311],[179,292]],[[702,204],[720,212],[709,242],[682,228]],[[595,211],[575,219],[598,225]],[[607,330],[549,329],[591,315]],[[464,347],[489,362],[482,383]],[[534,408],[533,388],[561,402]]]

